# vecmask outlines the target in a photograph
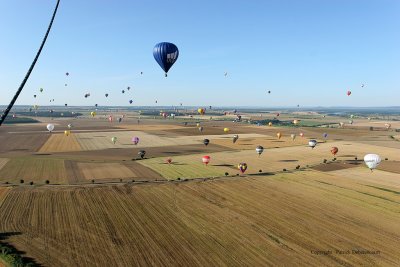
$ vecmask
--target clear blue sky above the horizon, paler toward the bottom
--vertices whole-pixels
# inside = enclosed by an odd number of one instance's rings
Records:
[[[0,0],[0,105],[55,4]],[[61,0],[16,104],[399,106],[399,14],[398,0]],[[164,41],[179,48],[167,78]]]

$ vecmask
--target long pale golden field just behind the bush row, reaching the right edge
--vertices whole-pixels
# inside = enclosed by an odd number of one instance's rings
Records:
[[[256,174],[259,173],[259,170],[262,170],[262,172],[276,172],[282,171],[284,168],[293,170],[297,165],[305,167],[306,165],[320,164],[324,159],[333,158],[330,153],[332,146],[339,148],[339,153],[336,156],[339,160],[349,160],[355,157],[362,159],[365,154],[371,153],[371,151],[380,154],[383,158],[388,157],[390,160],[400,160],[400,154],[394,148],[341,141],[320,143],[314,149],[308,146],[264,149],[264,153],[260,157],[254,147],[251,150],[176,156],[172,157],[174,161],[172,166],[164,164],[165,158],[147,159],[139,163],[157,171],[167,179],[223,176],[225,172],[236,174],[239,172],[237,165],[241,162],[247,163],[247,174]],[[201,158],[204,155],[211,157],[211,162],[207,168],[202,166]]]

